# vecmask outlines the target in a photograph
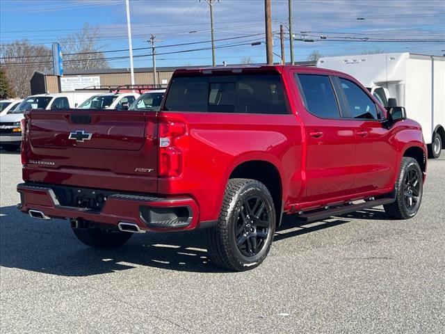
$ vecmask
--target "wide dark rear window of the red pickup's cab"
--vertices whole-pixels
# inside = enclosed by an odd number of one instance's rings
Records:
[[[279,74],[175,77],[167,111],[288,113]]]

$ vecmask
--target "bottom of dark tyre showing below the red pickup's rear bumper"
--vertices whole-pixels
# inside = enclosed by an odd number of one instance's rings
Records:
[[[97,248],[115,248],[125,244],[133,233],[101,228],[73,228],[77,239],[87,246]]]

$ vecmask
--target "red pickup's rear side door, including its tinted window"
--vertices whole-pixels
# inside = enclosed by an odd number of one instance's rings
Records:
[[[343,118],[332,77],[295,75],[305,110],[299,114],[307,138],[305,202],[326,202],[352,193],[355,141],[351,120]]]

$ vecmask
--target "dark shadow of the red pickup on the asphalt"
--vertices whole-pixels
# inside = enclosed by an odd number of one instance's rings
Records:
[[[348,223],[349,218],[379,220],[383,216],[371,209],[306,225],[287,217],[275,241]],[[203,230],[136,234],[121,248],[102,250],[81,244],[68,221],[39,221],[10,206],[0,207],[0,236],[0,265],[8,268],[60,276],[93,276],[136,267],[227,272],[209,262]]]

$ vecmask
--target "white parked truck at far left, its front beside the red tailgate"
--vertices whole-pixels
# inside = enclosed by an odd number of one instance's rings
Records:
[[[85,94],[38,94],[31,95],[22,100],[14,110],[8,111],[6,115],[0,116],[0,145],[4,150],[15,151],[22,142],[22,129],[20,122],[24,118],[26,110],[66,110],[74,108]]]

